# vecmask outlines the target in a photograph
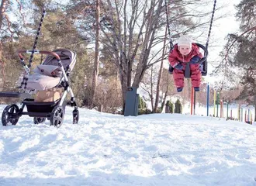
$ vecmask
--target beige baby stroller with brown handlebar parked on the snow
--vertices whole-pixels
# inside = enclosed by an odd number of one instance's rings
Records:
[[[26,70],[26,76],[23,77],[20,88],[24,87],[26,92],[0,92],[0,97],[24,98],[21,108],[16,104],[5,107],[2,112],[2,125],[16,125],[19,117],[29,115],[33,117],[35,124],[48,119],[50,126],[60,127],[64,120],[67,93],[71,95],[69,105],[74,106],[73,123],[78,123],[78,106],[74,101],[74,94],[67,78],[76,62],[76,53],[67,49],[19,50],[18,53],[21,64]],[[33,73],[30,73],[22,53],[42,53],[47,54],[47,57],[42,64],[34,68]],[[32,98],[33,91],[36,91],[35,98]],[[27,112],[23,112],[25,106]]]

